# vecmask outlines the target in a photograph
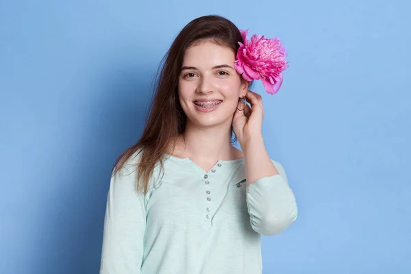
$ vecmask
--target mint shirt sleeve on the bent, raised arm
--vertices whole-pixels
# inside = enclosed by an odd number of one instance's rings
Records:
[[[275,235],[297,219],[297,203],[281,164],[272,161],[279,174],[263,177],[247,186],[251,227],[262,235]]]

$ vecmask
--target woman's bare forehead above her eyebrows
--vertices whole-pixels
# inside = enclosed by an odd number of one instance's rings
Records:
[[[183,66],[209,67],[219,64],[232,65],[236,55],[232,49],[214,42],[200,42],[184,53]]]

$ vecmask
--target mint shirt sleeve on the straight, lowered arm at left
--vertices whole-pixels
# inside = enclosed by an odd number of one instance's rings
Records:
[[[100,274],[139,274],[145,234],[145,198],[136,172],[112,175],[104,219]]]

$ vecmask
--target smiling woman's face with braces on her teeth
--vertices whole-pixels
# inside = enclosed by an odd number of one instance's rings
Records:
[[[203,127],[231,125],[238,98],[248,88],[234,69],[235,60],[232,49],[210,41],[186,50],[178,95],[187,123]]]

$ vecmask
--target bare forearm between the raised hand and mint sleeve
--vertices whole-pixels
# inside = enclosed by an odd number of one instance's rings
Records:
[[[249,138],[249,140],[241,145],[241,148],[245,158],[247,186],[263,177],[279,174],[266,151],[262,136]]]

